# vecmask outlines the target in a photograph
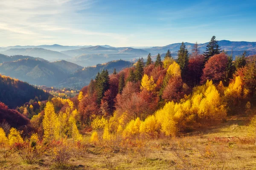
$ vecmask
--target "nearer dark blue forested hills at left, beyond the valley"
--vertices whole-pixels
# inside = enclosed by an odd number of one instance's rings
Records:
[[[0,74],[10,76],[34,85],[46,85],[48,87],[71,87],[80,89],[88,85],[91,78],[102,69],[108,69],[110,73],[132,65],[129,61],[117,60],[105,64],[97,64],[84,68],[65,60],[49,62],[47,60],[29,56],[6,56],[0,54]]]

